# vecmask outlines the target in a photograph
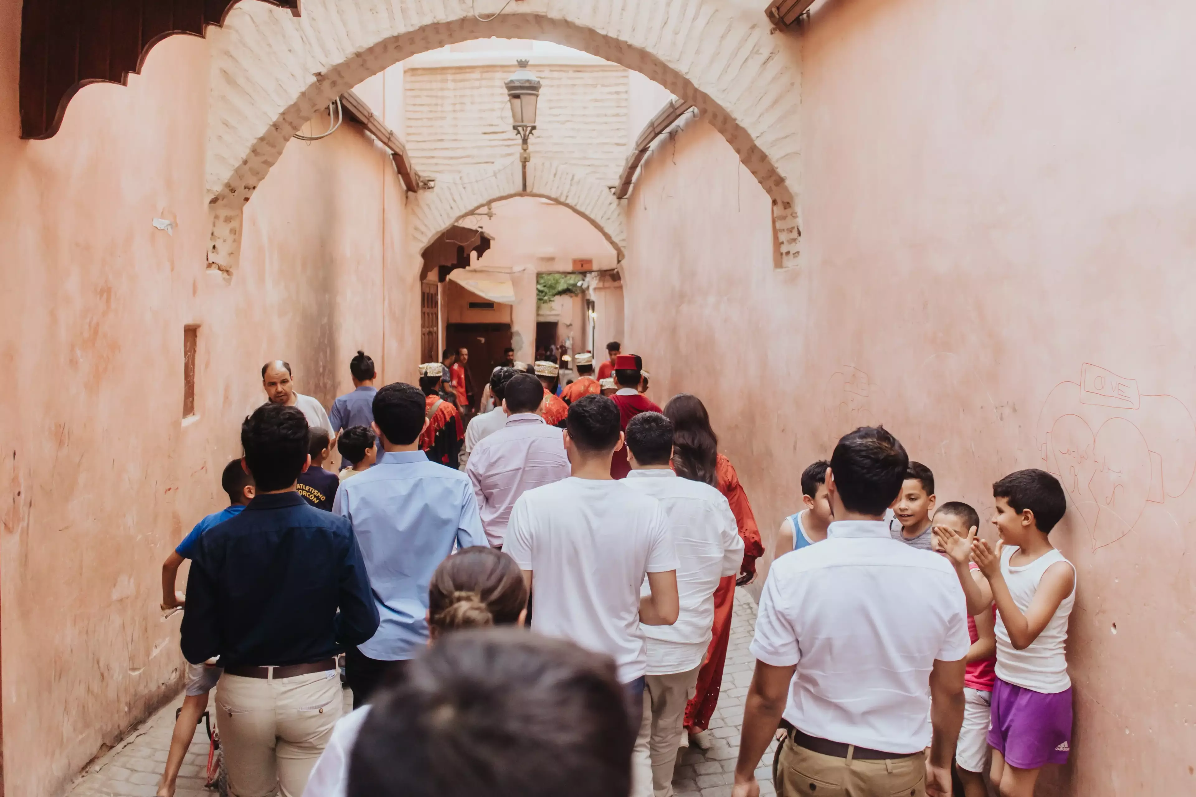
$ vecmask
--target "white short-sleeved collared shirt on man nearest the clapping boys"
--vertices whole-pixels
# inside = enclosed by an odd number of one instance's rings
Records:
[[[838,521],[773,563],[751,651],[797,664],[785,718],[820,738],[911,754],[930,743],[930,669],[968,654],[951,564],[892,539],[884,521]]]

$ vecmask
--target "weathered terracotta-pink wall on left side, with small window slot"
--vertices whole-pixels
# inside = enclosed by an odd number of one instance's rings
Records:
[[[352,127],[292,142],[246,208],[237,275],[206,270],[203,39],[166,39],[128,87],[79,92],[53,140],[20,141],[19,6],[0,2],[4,758],[8,797],[44,797],[179,688],[160,564],[226,504],[262,362],[289,360],[325,403],[358,348],[410,380],[419,292],[401,184]],[[187,422],[184,324],[201,325]]]

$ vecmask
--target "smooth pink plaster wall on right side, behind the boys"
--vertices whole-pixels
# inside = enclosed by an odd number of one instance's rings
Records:
[[[704,123],[628,204],[628,341],[658,400],[708,401],[769,534],[864,423],[986,519],[1005,473],[1063,477],[1076,725],[1043,795],[1196,790],[1194,25],[1177,2],[826,2],[801,266],[773,269],[768,200]]]

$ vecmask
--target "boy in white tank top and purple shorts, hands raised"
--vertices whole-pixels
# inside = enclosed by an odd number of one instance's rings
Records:
[[[1064,643],[1075,568],[1048,539],[1067,497],[1054,476],[1037,468],[1005,477],[993,497],[1001,541],[995,551],[984,540],[972,542],[972,560],[997,611],[990,777],[1001,797],[1033,797],[1043,765],[1066,764],[1072,743]]]

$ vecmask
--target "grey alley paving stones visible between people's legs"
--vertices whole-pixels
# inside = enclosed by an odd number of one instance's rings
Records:
[[[731,645],[727,649],[726,670],[719,707],[710,718],[707,736],[710,749],[683,749],[677,756],[673,790],[677,797],[727,797],[739,755],[739,725],[743,721],[744,695],[751,681],[755,660],[748,651],[756,627],[756,603],[744,590],[736,591],[731,623]],[[346,692],[346,703],[348,692]],[[170,749],[175,728],[175,710],[183,704],[178,695],[120,744],[94,761],[67,791],[68,797],[153,797],[158,778]],[[348,710],[348,707],[346,709]],[[775,742],[756,771],[761,796],[774,797],[771,761]],[[212,797],[215,792],[203,787],[208,762],[208,736],[203,725],[196,728],[195,738],[183,760],[176,797]]]

